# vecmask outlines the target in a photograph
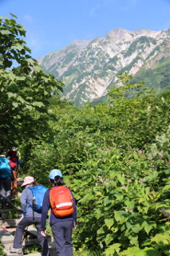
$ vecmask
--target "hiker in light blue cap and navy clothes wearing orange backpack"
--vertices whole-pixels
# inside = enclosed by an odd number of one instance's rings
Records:
[[[49,182],[53,187],[45,192],[42,204],[42,235],[45,236],[45,222],[48,215],[48,210],[51,209],[49,224],[53,231],[57,256],[73,256],[72,231],[75,229],[77,223],[76,202],[73,198],[71,190],[63,186],[65,183],[62,179],[60,170],[53,169],[50,171]],[[68,195],[66,195],[67,202],[62,202],[61,194],[65,193],[63,188],[66,189],[67,193],[70,194],[73,203],[69,202]],[[58,200],[60,202],[57,202]],[[67,204],[71,207],[69,210],[58,209],[59,213],[57,213],[55,206],[60,207],[66,206]],[[65,214],[65,211],[68,212]],[[61,217],[58,217],[58,215]]]

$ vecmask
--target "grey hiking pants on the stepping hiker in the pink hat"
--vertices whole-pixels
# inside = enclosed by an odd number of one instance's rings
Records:
[[[41,234],[41,218],[40,217],[23,217],[18,223],[17,229],[14,235],[14,245],[15,249],[22,248],[22,235],[27,226],[35,225],[38,230],[38,242],[42,246],[42,256],[49,256],[49,246],[47,238]]]

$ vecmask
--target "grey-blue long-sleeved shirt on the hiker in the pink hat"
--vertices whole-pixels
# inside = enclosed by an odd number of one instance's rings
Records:
[[[22,205],[22,213],[24,214],[25,217],[42,217],[42,214],[39,214],[34,211],[31,208],[32,206],[32,201],[33,201],[33,193],[31,190],[28,188],[24,189],[22,191],[22,196],[20,199],[21,205]]]

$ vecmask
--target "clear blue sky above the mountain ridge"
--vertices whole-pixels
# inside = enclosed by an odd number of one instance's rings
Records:
[[[110,30],[170,28],[170,0],[0,0],[0,15],[18,16],[33,58]]]

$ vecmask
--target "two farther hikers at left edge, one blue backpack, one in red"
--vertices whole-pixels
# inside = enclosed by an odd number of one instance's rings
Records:
[[[17,195],[18,166],[21,161],[16,147],[0,155],[0,199],[2,209],[11,207],[12,196]]]

